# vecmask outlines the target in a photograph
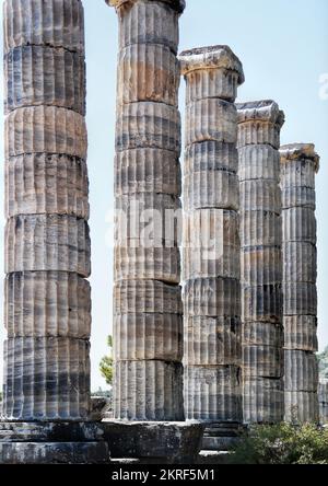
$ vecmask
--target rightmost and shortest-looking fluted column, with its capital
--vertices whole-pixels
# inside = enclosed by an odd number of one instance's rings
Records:
[[[317,250],[313,144],[284,146],[283,219],[284,395],[288,421],[318,420]]]

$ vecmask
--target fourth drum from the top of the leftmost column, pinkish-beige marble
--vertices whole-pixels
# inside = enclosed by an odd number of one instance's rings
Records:
[[[5,216],[74,215],[89,219],[89,181],[84,160],[26,153],[4,165]]]

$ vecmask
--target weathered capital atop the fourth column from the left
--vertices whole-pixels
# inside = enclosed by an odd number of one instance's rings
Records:
[[[284,124],[284,113],[279,108],[278,103],[272,100],[237,103],[238,124],[247,121],[272,123],[280,128]]]

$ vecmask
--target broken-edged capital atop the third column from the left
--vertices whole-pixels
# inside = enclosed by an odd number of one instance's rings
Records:
[[[229,46],[208,46],[184,50],[179,57],[181,74],[207,69],[226,69],[238,73],[238,83],[245,81],[243,65]]]

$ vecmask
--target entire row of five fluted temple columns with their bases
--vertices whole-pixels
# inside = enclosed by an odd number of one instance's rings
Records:
[[[253,424],[327,424],[315,147],[280,147],[276,102],[235,104],[230,47],[178,56],[185,0],[105,1],[119,24],[114,418],[91,410],[82,1],[4,0],[0,464],[206,464]]]

